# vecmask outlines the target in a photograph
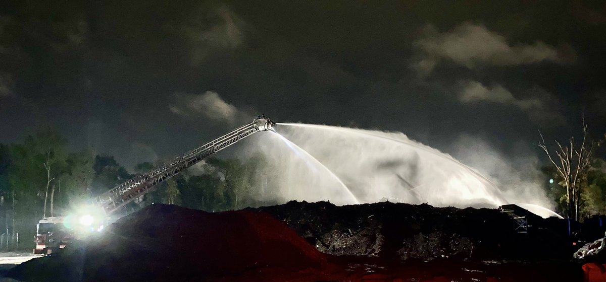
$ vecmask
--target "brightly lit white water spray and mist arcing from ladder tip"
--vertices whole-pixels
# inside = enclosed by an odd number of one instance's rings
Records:
[[[460,208],[522,202],[533,213],[555,215],[540,191],[504,193],[473,168],[402,133],[283,123],[275,130],[259,136],[258,150],[272,164],[261,175],[271,179],[278,202],[390,200]]]

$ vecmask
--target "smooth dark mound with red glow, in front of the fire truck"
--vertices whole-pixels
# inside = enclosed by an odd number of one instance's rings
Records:
[[[200,281],[255,268],[322,268],[324,255],[272,216],[152,205],[97,240],[34,259],[8,276],[24,281]]]

